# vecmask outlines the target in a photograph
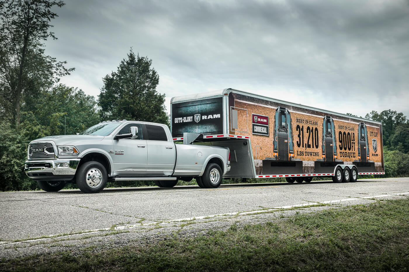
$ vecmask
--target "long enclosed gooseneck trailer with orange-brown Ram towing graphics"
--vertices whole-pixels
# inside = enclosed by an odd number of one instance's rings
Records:
[[[354,182],[384,174],[381,123],[236,89],[173,97],[171,133],[175,141],[229,147],[225,178]]]

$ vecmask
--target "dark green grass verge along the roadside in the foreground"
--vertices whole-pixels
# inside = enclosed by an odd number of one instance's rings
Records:
[[[70,250],[0,263],[11,271],[407,271],[409,198],[103,251]]]

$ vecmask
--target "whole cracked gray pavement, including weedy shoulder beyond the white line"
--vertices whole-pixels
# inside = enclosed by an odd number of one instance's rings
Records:
[[[0,257],[8,258],[34,254],[39,250],[54,251],[90,244],[100,248],[114,246],[118,241],[123,245],[135,243],[142,238],[158,239],[157,237],[175,233],[197,235],[209,229],[227,229],[235,222],[261,223],[290,216],[296,211],[272,210],[207,217],[215,214],[360,198],[320,207],[301,207],[297,210],[313,212],[327,207],[374,202],[364,197],[405,192],[409,192],[409,178],[365,179],[357,183],[313,181],[309,184],[237,184],[222,185],[217,189],[200,189],[198,186],[171,189],[108,188],[99,194],[82,194],[79,190],[62,190],[56,193],[2,192]],[[193,217],[198,219],[180,220]],[[55,234],[58,235],[54,236]],[[49,237],[32,240],[40,236]],[[12,242],[16,239],[25,241]]]

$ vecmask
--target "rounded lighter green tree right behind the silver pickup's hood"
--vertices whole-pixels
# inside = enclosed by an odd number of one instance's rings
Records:
[[[36,104],[26,110],[22,112],[22,125],[29,139],[75,134],[99,123],[94,96],[62,84],[41,92]]]

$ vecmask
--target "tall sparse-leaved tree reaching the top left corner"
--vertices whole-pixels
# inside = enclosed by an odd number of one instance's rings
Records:
[[[3,120],[20,124],[20,107],[25,98],[41,88],[58,82],[56,76],[69,74],[66,62],[45,56],[43,44],[47,38],[56,39],[49,31],[49,22],[57,17],[54,6],[63,1],[2,0],[0,1],[0,88]]]

